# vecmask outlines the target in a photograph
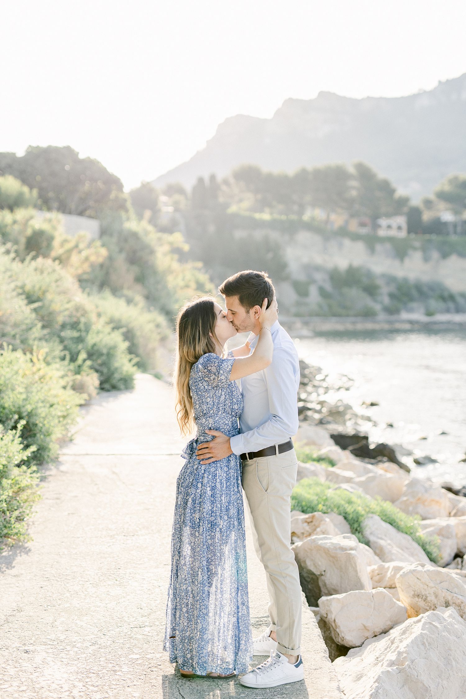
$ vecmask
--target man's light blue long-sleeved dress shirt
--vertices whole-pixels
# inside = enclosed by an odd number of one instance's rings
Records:
[[[270,366],[240,380],[244,408],[239,435],[230,438],[234,454],[258,452],[287,442],[298,431],[299,359],[293,340],[280,323],[271,327]],[[251,351],[258,338],[251,343]]]

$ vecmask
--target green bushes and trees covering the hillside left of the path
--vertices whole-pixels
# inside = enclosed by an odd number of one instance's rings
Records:
[[[63,161],[66,173],[76,166],[78,175],[84,168],[101,178],[105,171],[70,151],[36,149],[25,174],[16,164],[29,182],[39,168],[42,190],[0,176],[0,539],[6,542],[26,537],[38,467],[57,456],[79,405],[97,391],[133,387],[137,370],[156,373],[179,305],[212,290],[200,264],[186,258],[181,234],[160,233],[137,217],[114,175],[108,173],[103,189],[80,176],[63,185],[55,174]],[[0,161],[4,168],[5,158]],[[86,233],[67,236],[59,213],[38,215],[37,208],[98,216],[102,236],[94,242]]]

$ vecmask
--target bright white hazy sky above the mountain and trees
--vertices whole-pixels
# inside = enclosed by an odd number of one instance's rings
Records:
[[[465,24],[465,0],[4,0],[0,151],[69,144],[133,187],[231,115],[454,78]]]

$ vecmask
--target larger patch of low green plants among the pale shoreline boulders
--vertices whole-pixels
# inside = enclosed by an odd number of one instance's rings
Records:
[[[292,510],[300,512],[336,512],[345,517],[352,533],[363,544],[368,544],[361,524],[368,514],[377,514],[380,519],[391,524],[407,535],[426,552],[431,561],[439,562],[437,540],[426,538],[419,528],[419,517],[410,517],[398,510],[392,503],[375,498],[372,500],[363,493],[350,493],[343,489],[331,491],[333,483],[325,483],[318,478],[305,478],[296,484],[292,493]]]

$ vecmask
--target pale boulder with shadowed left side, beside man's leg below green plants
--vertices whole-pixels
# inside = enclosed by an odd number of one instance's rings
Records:
[[[324,595],[371,590],[367,554],[355,536],[311,536],[292,547],[308,605]]]

